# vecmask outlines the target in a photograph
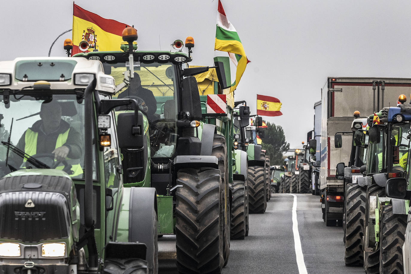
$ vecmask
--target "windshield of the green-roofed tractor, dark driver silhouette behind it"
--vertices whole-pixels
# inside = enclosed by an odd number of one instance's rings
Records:
[[[177,141],[177,91],[176,65],[169,63],[143,63],[134,65],[134,78],[130,85],[115,97],[136,99],[139,108],[148,118],[152,158],[170,158]],[[107,67],[111,66],[111,67]],[[127,63],[104,64],[104,70],[114,77],[115,84],[123,81],[129,68]],[[118,108],[117,111],[127,111]]]

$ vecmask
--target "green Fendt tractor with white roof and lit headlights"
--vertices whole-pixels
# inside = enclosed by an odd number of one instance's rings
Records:
[[[1,272],[157,273],[156,192],[123,186],[119,153],[143,147],[143,115],[114,123],[137,101],[111,99],[97,60],[0,67]]]

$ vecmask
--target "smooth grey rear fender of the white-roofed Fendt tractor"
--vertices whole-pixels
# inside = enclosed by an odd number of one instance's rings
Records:
[[[153,239],[157,237],[157,223],[152,223],[153,214],[157,215],[157,194],[154,187],[132,187],[129,205],[129,242],[140,242],[147,246],[146,258],[152,261],[156,250]]]

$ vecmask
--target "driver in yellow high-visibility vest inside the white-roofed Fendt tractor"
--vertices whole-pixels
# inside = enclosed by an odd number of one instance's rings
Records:
[[[69,123],[61,119],[62,109],[56,101],[42,103],[40,118],[32,127],[28,128],[18,141],[17,147],[26,154],[33,156],[39,153],[54,154],[56,161],[66,160],[72,165],[70,176],[83,173],[79,164],[81,157],[81,138],[78,131],[70,127]],[[17,159],[14,158],[13,161]],[[26,159],[23,159],[25,162]],[[21,160],[18,166],[21,165]],[[56,169],[63,169],[59,165]]]

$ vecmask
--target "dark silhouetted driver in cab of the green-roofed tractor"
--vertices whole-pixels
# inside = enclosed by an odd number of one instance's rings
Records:
[[[157,101],[153,93],[141,86],[140,75],[134,72],[134,78],[130,81],[129,87],[121,92],[117,99],[139,97],[141,100],[137,99],[137,102],[142,108],[142,111],[147,113],[148,118],[152,119],[154,113],[157,111]],[[116,108],[116,110],[125,110],[127,107]]]

